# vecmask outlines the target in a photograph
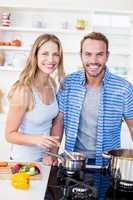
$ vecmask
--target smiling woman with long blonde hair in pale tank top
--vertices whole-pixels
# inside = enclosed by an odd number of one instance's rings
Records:
[[[58,113],[55,81],[50,76],[55,71],[60,81],[64,75],[61,43],[55,35],[41,35],[9,93],[5,134],[12,143],[12,160],[41,161],[46,150],[59,146],[59,138],[50,136]]]

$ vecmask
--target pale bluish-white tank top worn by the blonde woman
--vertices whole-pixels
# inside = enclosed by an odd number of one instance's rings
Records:
[[[46,105],[40,99],[38,92],[33,88],[35,106],[33,110],[25,113],[20,131],[28,135],[50,135],[52,120],[58,113],[58,104],[54,93],[54,100],[50,105]],[[16,145],[11,146],[11,158],[14,161],[41,161],[44,157],[45,149],[35,145]]]

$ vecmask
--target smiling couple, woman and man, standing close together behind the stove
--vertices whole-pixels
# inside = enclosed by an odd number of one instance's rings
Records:
[[[51,164],[46,151],[57,152],[64,131],[66,150],[82,151],[102,165],[102,153],[120,147],[123,119],[133,138],[133,87],[109,72],[108,46],[102,33],[86,35],[80,46],[83,69],[64,78],[60,40],[51,34],[36,39],[9,93],[5,133],[11,159]],[[57,99],[55,71],[61,82]]]

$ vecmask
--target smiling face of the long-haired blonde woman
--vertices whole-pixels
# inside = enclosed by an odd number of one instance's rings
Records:
[[[57,68],[59,62],[59,48],[55,42],[48,41],[40,47],[37,54],[37,64],[42,72],[51,74]]]

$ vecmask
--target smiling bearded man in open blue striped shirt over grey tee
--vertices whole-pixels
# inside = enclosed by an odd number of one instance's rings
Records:
[[[62,134],[64,120],[65,149],[85,152],[89,162],[102,165],[102,153],[120,147],[123,119],[133,139],[133,87],[109,72],[103,34],[86,35],[80,55],[83,70],[67,76],[58,93],[60,112],[53,134]]]

